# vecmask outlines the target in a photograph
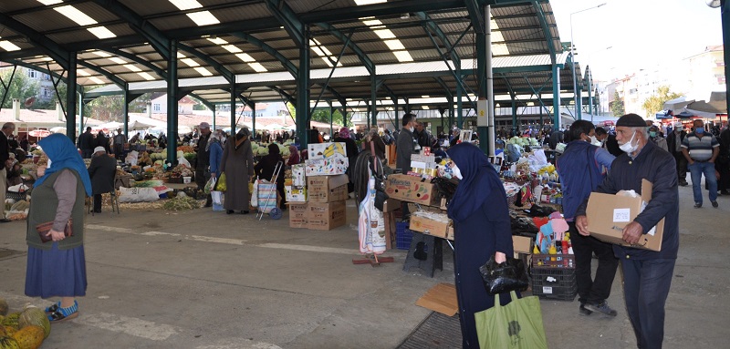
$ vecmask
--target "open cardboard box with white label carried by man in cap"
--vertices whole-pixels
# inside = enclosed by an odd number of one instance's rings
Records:
[[[637,198],[598,192],[591,193],[588,209],[586,210],[590,235],[601,241],[622,246],[660,251],[662,249],[664,219],[659,221],[651,231],[643,234],[637,244],[630,245],[622,240],[623,227],[633,221],[650,200],[652,200],[652,182],[649,180],[641,180],[641,197]]]

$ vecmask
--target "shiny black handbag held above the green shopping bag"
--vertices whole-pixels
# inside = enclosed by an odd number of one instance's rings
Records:
[[[525,263],[507,256],[506,262],[495,262],[495,256],[479,267],[489,294],[525,291],[529,285]]]

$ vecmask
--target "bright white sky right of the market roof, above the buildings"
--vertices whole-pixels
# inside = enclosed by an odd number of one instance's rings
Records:
[[[581,67],[595,80],[631,75],[723,45],[720,8],[705,0],[550,0],[558,34],[573,41]],[[591,8],[584,12],[576,12]],[[608,48],[610,47],[610,48]]]

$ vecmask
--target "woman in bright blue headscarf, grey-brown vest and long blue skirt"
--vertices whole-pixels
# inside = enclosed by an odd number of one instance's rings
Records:
[[[56,133],[38,141],[48,157],[47,166],[38,167],[33,200],[27,218],[26,295],[61,297],[46,308],[53,322],[78,316],[75,297],[86,295],[84,257],[84,202],[91,196],[91,180],[84,160],[73,142]],[[53,222],[43,242],[36,226]],[[71,236],[64,230],[71,225]]]

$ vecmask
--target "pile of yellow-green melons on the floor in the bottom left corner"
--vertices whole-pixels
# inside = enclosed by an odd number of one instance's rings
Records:
[[[51,333],[47,314],[33,305],[23,312],[7,313],[8,306],[0,298],[0,348],[36,349]]]

